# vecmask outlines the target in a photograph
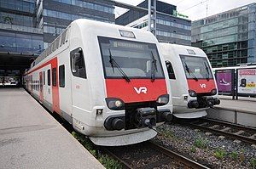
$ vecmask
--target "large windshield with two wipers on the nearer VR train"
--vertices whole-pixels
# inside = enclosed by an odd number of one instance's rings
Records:
[[[164,78],[155,44],[109,37],[98,39],[107,78]]]

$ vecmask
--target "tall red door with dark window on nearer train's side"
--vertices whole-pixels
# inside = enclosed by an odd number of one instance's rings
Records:
[[[58,59],[51,61],[51,77],[52,77],[52,110],[60,114],[60,99],[59,99],[59,82],[58,82]]]

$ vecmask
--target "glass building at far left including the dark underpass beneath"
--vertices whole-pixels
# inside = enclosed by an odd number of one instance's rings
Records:
[[[44,50],[43,31],[34,25],[34,12],[34,0],[0,1],[1,82],[19,79]]]

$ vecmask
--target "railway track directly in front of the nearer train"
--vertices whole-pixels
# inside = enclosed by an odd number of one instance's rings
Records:
[[[102,149],[124,168],[208,168],[153,142]]]

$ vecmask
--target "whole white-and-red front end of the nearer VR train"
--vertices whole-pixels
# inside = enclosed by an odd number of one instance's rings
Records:
[[[91,23],[81,26],[88,31],[83,38],[90,110],[77,115],[74,128],[104,146],[154,138],[155,127],[172,121],[171,89],[157,39],[148,31]]]

